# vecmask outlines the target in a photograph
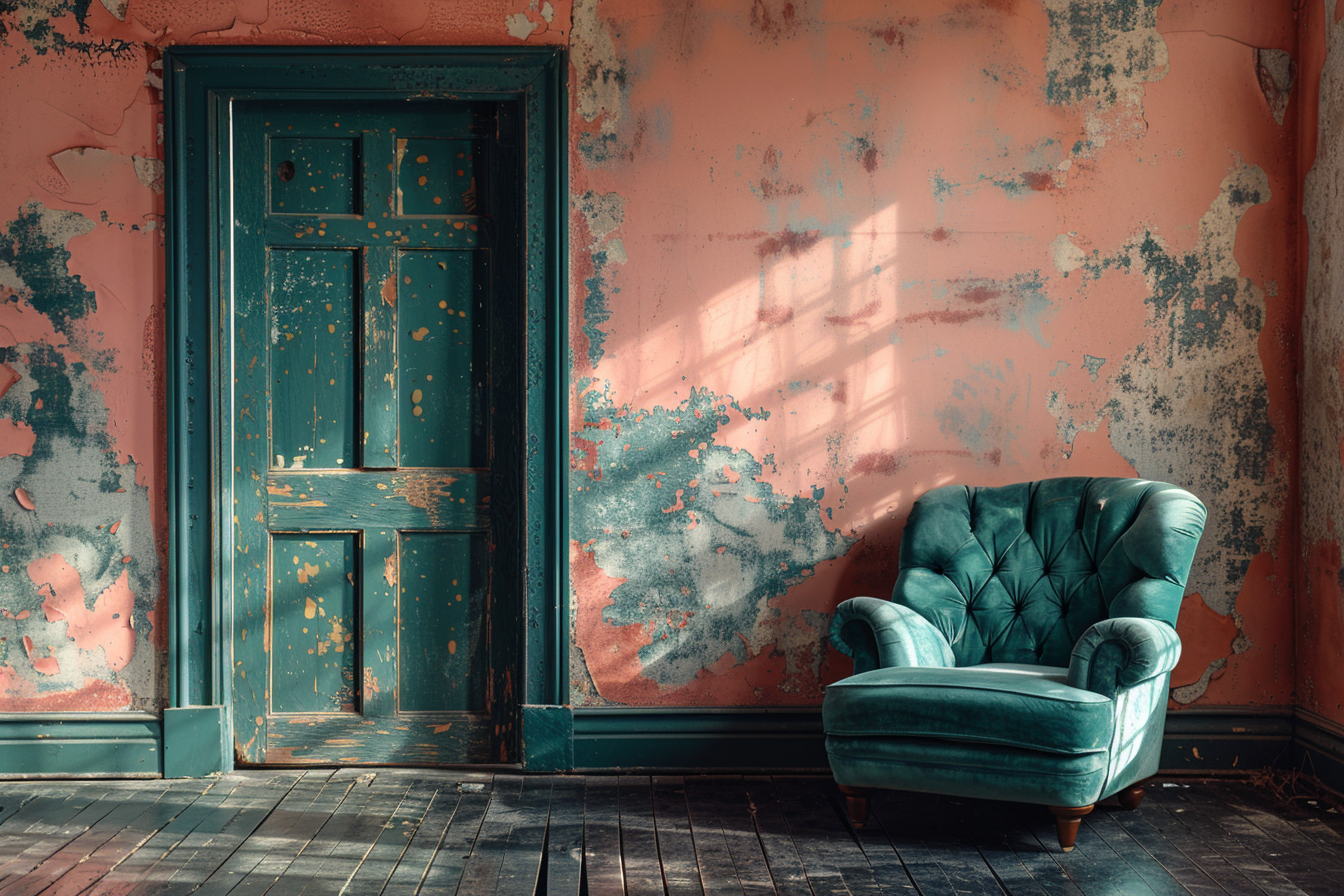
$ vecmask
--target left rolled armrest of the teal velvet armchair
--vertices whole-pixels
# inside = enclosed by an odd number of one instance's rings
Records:
[[[948,639],[910,607],[878,598],[851,598],[831,619],[831,643],[853,657],[853,672],[887,666],[954,666]]]

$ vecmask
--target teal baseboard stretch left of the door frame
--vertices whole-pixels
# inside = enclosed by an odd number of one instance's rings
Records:
[[[157,778],[163,723],[148,712],[0,713],[0,778]]]

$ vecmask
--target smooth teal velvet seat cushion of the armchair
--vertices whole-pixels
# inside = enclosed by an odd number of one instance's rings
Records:
[[[828,736],[937,737],[1078,755],[1110,747],[1114,705],[1058,666],[891,666],[827,688]]]

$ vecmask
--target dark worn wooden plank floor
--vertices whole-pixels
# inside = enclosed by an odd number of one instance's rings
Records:
[[[880,794],[851,830],[797,776],[265,771],[0,782],[0,896],[1298,896],[1344,893],[1344,823],[1247,783],[1046,810]]]

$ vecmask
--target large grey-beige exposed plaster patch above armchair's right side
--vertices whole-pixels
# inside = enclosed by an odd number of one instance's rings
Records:
[[[1242,216],[1269,199],[1263,169],[1238,159],[1200,219],[1192,251],[1172,254],[1145,231],[1117,255],[1089,262],[1094,277],[1144,271],[1150,336],[1120,361],[1099,406],[1070,406],[1063,392],[1047,402],[1066,442],[1109,416],[1110,442],[1138,476],[1204,500],[1208,525],[1189,590],[1223,615],[1234,611],[1251,559],[1275,548],[1286,498],[1259,359],[1265,296],[1241,277],[1232,255]]]

